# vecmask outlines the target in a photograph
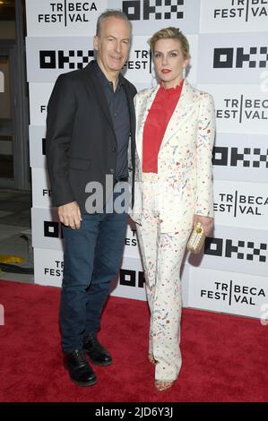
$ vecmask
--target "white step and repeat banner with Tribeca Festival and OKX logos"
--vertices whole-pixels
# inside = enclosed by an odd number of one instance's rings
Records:
[[[191,47],[188,81],[215,100],[215,229],[203,254],[185,257],[183,304],[261,318],[268,306],[266,0],[26,0],[35,282],[59,287],[63,275],[64,240],[51,207],[46,164],[48,99],[60,73],[93,58],[96,22],[108,8],[123,10],[133,24],[124,73],[137,90],[157,83],[148,39],[156,30],[176,26]],[[112,294],[145,299],[131,221]]]

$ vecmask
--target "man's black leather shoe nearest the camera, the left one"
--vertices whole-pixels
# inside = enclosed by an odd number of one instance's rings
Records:
[[[79,384],[79,386],[91,386],[97,382],[96,374],[81,349],[75,349],[73,352],[65,354],[65,367],[72,382]]]

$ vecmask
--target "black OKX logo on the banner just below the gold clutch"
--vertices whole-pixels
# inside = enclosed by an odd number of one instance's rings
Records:
[[[204,254],[264,263],[267,260],[267,244],[208,237],[205,240]]]

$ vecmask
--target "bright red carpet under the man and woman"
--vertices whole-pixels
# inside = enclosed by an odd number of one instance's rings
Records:
[[[0,281],[0,401],[233,402],[268,401],[268,326],[258,320],[183,311],[183,367],[170,391],[153,389],[146,360],[149,313],[144,302],[110,297],[99,338],[114,364],[95,367],[98,384],[81,388],[62,365],[58,288]]]

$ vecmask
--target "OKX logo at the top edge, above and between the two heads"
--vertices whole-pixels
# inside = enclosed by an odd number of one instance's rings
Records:
[[[183,19],[184,0],[125,0],[122,10],[129,21]]]

